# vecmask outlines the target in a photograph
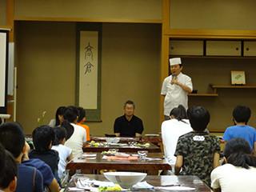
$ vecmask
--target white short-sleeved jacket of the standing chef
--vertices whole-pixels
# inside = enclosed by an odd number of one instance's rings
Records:
[[[166,95],[164,101],[164,114],[169,116],[170,111],[177,107],[178,105],[184,106],[186,109],[188,107],[188,99],[187,99],[187,92],[182,89],[182,87],[171,84],[172,76],[165,78],[162,82],[162,90],[161,94]],[[178,74],[177,76],[178,82],[181,82],[183,85],[190,87],[193,90],[193,85],[191,78],[186,74]]]

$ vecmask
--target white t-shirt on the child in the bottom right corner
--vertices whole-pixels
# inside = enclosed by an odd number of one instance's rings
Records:
[[[215,168],[211,174],[211,187],[221,188],[222,192],[255,192],[256,168],[249,170],[231,164]]]

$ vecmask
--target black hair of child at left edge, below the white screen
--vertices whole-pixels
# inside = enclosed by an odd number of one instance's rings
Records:
[[[5,122],[0,126],[0,142],[9,150],[14,158],[22,153],[25,137],[22,126],[17,122]]]

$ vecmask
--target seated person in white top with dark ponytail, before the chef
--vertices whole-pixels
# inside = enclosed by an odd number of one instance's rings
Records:
[[[162,122],[162,144],[167,161],[174,165],[176,157],[174,156],[178,138],[182,134],[192,131],[190,121],[186,117],[186,109],[179,105],[170,111],[170,120]]]

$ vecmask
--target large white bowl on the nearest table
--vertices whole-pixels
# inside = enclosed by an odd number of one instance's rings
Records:
[[[130,188],[146,178],[146,173],[138,172],[106,172],[105,178],[110,182],[118,183],[123,188]]]

